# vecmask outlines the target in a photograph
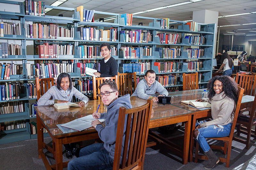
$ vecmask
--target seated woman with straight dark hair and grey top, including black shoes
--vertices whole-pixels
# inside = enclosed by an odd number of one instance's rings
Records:
[[[40,99],[37,101],[37,106],[48,106],[54,103],[71,102],[73,96],[81,100],[78,104],[83,107],[88,102],[88,97],[79,92],[72,86],[71,77],[68,73],[61,73],[53,85]],[[76,152],[76,143],[64,144],[66,149],[66,157],[71,159]]]

